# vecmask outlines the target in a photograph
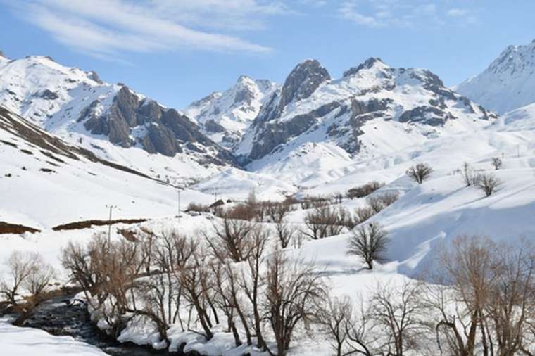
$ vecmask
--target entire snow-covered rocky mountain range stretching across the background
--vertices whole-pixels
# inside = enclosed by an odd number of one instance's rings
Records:
[[[199,180],[228,167],[282,172],[307,156],[344,165],[489,125],[497,115],[488,109],[535,102],[534,53],[535,42],[510,46],[456,90],[429,70],[391,68],[379,58],[336,79],[306,60],[282,85],[240,76],[182,111],[49,57],[1,56],[0,105],[161,179]],[[314,169],[301,168],[301,178]]]

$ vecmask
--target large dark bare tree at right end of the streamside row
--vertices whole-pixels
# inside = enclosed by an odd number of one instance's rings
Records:
[[[265,284],[265,318],[275,336],[277,355],[284,356],[296,326],[317,317],[326,286],[311,262],[289,260],[281,251],[275,251],[267,260]],[[274,355],[272,350],[268,351]]]

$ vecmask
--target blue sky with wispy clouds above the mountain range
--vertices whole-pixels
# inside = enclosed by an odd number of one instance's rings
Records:
[[[448,85],[535,39],[534,0],[0,0],[0,50],[37,54],[184,108],[241,74],[333,77],[371,56]]]

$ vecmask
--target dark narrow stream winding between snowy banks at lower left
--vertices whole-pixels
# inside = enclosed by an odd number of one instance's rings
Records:
[[[73,295],[51,298],[41,303],[24,326],[42,329],[56,336],[73,336],[78,341],[94,345],[113,356],[181,355],[177,352],[156,351],[132,343],[119,343],[99,331],[89,322],[87,307],[81,303],[68,305]],[[182,354],[183,355],[183,354]]]

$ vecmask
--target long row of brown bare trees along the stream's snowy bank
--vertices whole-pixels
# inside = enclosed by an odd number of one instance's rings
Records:
[[[272,247],[271,234],[265,225],[225,218],[197,239],[147,229],[133,243],[96,235],[87,246],[70,243],[63,265],[115,336],[134,318],[153,323],[168,343],[171,325],[207,340],[224,325],[236,346],[286,355],[327,288],[311,262]]]

